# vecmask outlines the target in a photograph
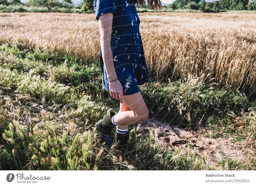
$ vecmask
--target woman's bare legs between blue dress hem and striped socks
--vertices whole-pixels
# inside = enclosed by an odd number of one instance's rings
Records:
[[[145,121],[148,119],[148,107],[145,104],[140,91],[132,95],[124,95],[123,104],[124,103],[131,110],[127,110],[127,107],[125,105],[123,108],[122,105],[119,112],[115,115],[115,121],[118,125],[121,125],[122,127],[125,126],[127,128],[130,124],[138,121]],[[125,109],[126,111],[122,111],[123,109]]]

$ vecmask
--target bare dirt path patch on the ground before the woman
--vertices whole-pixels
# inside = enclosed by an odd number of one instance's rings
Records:
[[[200,158],[203,158],[206,153],[207,161],[214,169],[220,169],[216,162],[223,159],[225,156],[247,164],[251,162],[250,157],[256,153],[255,149],[251,149],[251,146],[245,145],[243,141],[232,142],[232,138],[208,138],[199,135],[196,131],[170,126],[167,123],[162,123],[155,119],[141,124],[139,128],[139,131],[144,135],[148,135],[148,131],[150,130],[152,130],[154,137],[157,135],[159,143],[171,150],[180,147],[181,151],[186,151],[186,145],[188,143],[192,144]]]

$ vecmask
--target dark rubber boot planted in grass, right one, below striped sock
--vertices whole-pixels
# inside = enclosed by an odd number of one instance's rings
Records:
[[[127,155],[129,158],[134,159],[136,154],[134,151],[132,151],[128,147],[128,140],[129,140],[129,133],[126,132],[126,134],[120,134],[116,132],[115,135],[115,142],[116,142],[116,147],[124,152],[125,155]]]

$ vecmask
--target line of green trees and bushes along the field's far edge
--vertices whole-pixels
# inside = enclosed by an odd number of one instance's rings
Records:
[[[21,3],[20,0],[0,0],[0,5],[22,4],[31,7],[46,7],[49,12],[58,8],[72,9],[78,8],[81,11],[94,11],[94,0],[83,0],[74,7],[72,0],[28,0]],[[175,0],[172,4],[163,6],[167,9],[190,9],[202,12],[226,12],[228,10],[252,10],[256,11],[256,0],[220,0],[206,2],[205,0]],[[148,8],[144,6],[144,8]]]

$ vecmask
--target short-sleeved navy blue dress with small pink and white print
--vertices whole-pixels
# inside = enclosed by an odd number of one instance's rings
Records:
[[[96,19],[107,12],[113,13],[111,50],[116,76],[123,86],[124,95],[140,91],[138,85],[151,82],[140,36],[140,18],[133,0],[95,0]],[[108,77],[100,48],[102,85],[109,91]]]

